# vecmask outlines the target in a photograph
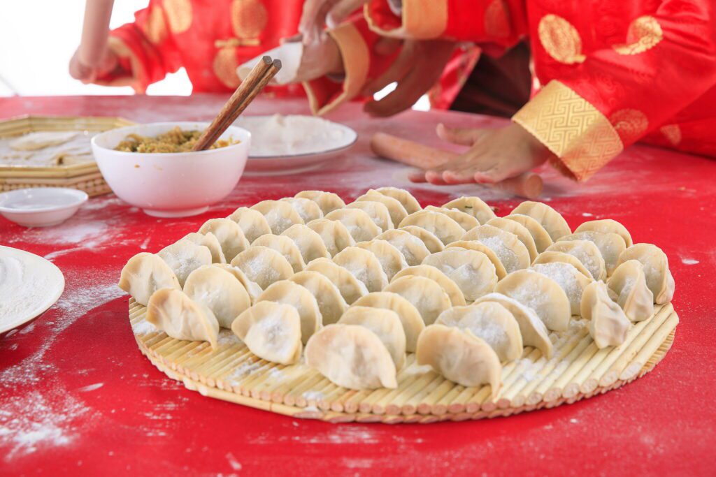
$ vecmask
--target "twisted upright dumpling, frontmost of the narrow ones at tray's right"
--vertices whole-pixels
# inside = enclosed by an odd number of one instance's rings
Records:
[[[627,340],[632,324],[624,310],[611,301],[604,282],[591,282],[584,290],[581,303],[582,318],[590,320],[589,335],[596,347],[619,346]]]

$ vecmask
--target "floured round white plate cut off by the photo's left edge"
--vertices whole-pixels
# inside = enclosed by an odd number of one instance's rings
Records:
[[[42,315],[62,290],[64,276],[54,263],[0,245],[0,333]]]

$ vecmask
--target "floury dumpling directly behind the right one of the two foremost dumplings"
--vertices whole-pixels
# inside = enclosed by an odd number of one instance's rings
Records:
[[[512,313],[500,303],[456,306],[442,312],[435,323],[470,330],[488,343],[502,362],[516,360],[522,355],[520,326]]]

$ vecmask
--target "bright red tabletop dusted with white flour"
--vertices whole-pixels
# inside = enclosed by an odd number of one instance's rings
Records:
[[[224,97],[47,97],[0,100],[0,116],[119,115],[140,122],[208,119]],[[300,101],[256,102],[249,114],[306,112]],[[67,287],[40,318],[0,337],[0,473],[168,475],[285,473],[528,473],[608,475],[716,472],[716,162],[632,147],[585,185],[546,171],[544,200],[571,227],[612,217],[637,242],[667,252],[681,317],[674,347],[642,379],[606,395],[492,421],[427,426],[300,421],[204,398],[144,358],[117,289],[126,260],[156,252],[210,217],[304,189],[350,200],[369,187],[406,187],[422,202],[480,195],[505,215],[516,201],[482,187],[410,185],[405,169],[372,158],[382,130],[437,144],[446,124],[499,120],[407,112],[374,120],[359,107],[332,119],[360,133],[357,147],[316,172],[244,177],[196,217],[148,217],[113,195],[71,220],[28,230],[0,218],[0,243],[44,255]]]

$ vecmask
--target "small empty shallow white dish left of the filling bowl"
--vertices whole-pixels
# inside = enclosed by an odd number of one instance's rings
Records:
[[[0,194],[0,214],[24,227],[49,227],[64,222],[87,202],[82,190],[34,187]]]

